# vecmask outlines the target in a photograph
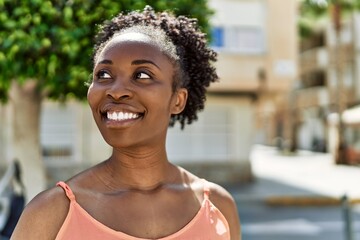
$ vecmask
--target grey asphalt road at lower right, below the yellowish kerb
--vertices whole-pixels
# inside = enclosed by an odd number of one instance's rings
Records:
[[[264,184],[267,180],[258,181]],[[276,187],[286,188],[274,186]],[[237,199],[237,203],[243,240],[347,240],[341,205],[274,206],[256,199]],[[352,209],[352,220],[352,228],[355,231],[353,235],[356,237],[353,240],[360,239],[360,214],[356,209]]]

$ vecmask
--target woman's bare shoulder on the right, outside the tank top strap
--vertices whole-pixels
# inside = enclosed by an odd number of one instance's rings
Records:
[[[210,200],[225,216],[230,226],[231,240],[241,239],[241,228],[236,202],[231,194],[215,183],[210,185]]]

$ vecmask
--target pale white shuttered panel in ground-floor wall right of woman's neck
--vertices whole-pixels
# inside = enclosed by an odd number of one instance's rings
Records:
[[[208,105],[199,120],[169,129],[167,149],[169,158],[179,162],[226,161],[235,159],[232,146],[235,118],[233,107]]]

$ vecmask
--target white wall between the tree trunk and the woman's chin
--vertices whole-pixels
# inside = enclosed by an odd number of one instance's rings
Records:
[[[48,166],[94,165],[111,153],[85,102],[45,102],[41,116],[41,143],[44,148],[66,151],[63,156],[44,156]]]

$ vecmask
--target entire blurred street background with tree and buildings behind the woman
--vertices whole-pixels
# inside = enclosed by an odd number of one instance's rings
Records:
[[[110,155],[84,101],[92,39],[146,4],[218,52],[169,159],[229,189],[243,239],[360,239],[359,0],[0,1],[0,166],[19,160],[27,198]]]

